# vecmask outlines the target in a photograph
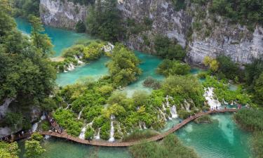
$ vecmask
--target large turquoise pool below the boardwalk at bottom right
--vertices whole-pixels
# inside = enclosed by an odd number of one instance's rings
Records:
[[[203,158],[251,157],[250,133],[241,130],[231,114],[215,114],[213,124],[188,124],[176,132],[184,145],[192,147]]]

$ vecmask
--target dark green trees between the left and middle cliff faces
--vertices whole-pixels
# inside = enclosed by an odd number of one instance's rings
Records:
[[[89,8],[87,29],[91,35],[113,42],[123,37],[123,22],[117,4],[116,0],[99,0]]]

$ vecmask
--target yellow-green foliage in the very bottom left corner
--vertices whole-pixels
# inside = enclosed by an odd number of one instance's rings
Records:
[[[18,143],[6,143],[0,141],[0,157],[3,158],[18,158]]]

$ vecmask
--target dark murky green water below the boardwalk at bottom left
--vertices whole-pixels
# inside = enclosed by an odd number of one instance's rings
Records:
[[[25,153],[25,141],[18,143],[21,152],[20,157]],[[45,140],[43,148],[46,150],[42,157],[48,158],[130,158],[126,147],[95,147],[81,145],[64,139],[50,138]]]

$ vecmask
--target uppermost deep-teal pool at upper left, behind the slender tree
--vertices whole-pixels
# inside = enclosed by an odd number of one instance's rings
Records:
[[[30,34],[31,25],[29,22],[22,18],[15,18],[18,29],[24,34]],[[64,48],[72,46],[76,41],[81,39],[93,40],[87,34],[78,34],[76,32],[68,31],[65,29],[57,29],[54,27],[44,26],[45,33],[50,37],[52,44],[54,45],[55,55],[60,56]]]

